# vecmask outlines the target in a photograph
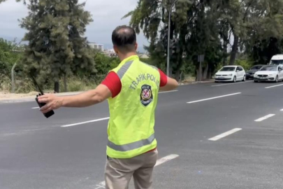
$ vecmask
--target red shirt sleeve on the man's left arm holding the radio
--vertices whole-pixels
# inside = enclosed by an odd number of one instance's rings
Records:
[[[117,97],[117,95],[122,90],[121,80],[120,80],[119,76],[117,75],[117,73],[115,73],[114,71],[110,71],[110,73],[108,73],[108,75],[102,81],[101,84],[106,85],[106,87],[108,87],[108,89],[112,93],[113,98]]]

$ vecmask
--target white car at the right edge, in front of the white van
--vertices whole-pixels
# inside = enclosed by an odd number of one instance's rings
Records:
[[[254,73],[254,82],[283,80],[283,67],[281,65],[263,66],[259,71]]]

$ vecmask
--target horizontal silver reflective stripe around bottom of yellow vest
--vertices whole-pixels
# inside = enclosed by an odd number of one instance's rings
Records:
[[[132,150],[138,149],[140,147],[152,144],[154,139],[155,139],[155,135],[152,134],[152,136],[150,136],[148,139],[143,139],[141,141],[136,141],[136,142],[133,142],[131,144],[116,145],[113,142],[108,141],[107,146],[109,148],[112,148],[115,151],[126,152],[126,151],[132,151]]]

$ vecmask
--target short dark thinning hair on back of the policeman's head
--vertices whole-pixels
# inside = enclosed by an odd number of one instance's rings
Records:
[[[119,26],[112,33],[112,42],[119,50],[124,52],[133,51],[136,44],[136,31],[125,25]]]

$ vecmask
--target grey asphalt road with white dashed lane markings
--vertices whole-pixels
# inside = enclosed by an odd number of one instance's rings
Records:
[[[154,169],[154,189],[283,188],[283,83],[177,90],[159,94],[156,137],[168,161]],[[107,102],[50,119],[36,106],[0,104],[0,188],[103,188],[108,120],[83,122],[107,118]]]

